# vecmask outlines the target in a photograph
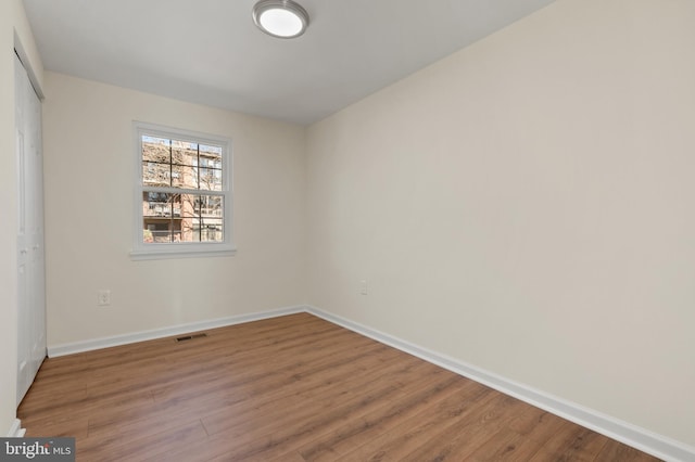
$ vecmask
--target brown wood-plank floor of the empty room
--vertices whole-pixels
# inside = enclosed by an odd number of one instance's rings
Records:
[[[47,359],[26,436],[77,461],[653,461],[301,313]]]

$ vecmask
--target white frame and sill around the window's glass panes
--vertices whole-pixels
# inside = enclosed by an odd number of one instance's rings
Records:
[[[231,140],[228,138],[165,127],[155,124],[134,121],[134,139],[136,153],[135,193],[134,193],[134,227],[132,251],[130,258],[134,260],[150,260],[164,258],[191,258],[191,257],[227,257],[236,254],[232,240],[232,188],[231,188]],[[142,136],[190,141],[199,144],[212,144],[222,146],[223,163],[223,190],[214,191],[224,198],[224,217],[222,242],[176,242],[176,243],[144,243],[142,233],[142,194],[148,189],[142,181]],[[180,193],[177,188],[160,189],[162,192]],[[204,192],[204,191],[203,191]]]

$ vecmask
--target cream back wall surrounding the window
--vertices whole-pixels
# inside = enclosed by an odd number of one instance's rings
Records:
[[[46,93],[49,348],[305,301],[303,127],[50,72]],[[132,120],[231,139],[236,256],[130,260]]]

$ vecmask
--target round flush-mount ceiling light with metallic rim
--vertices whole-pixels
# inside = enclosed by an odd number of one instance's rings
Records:
[[[308,14],[292,0],[261,0],[253,7],[253,22],[273,37],[294,38],[306,30]]]

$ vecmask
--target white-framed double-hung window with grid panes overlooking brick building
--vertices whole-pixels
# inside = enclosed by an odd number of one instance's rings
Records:
[[[134,259],[232,255],[230,142],[135,124]]]

